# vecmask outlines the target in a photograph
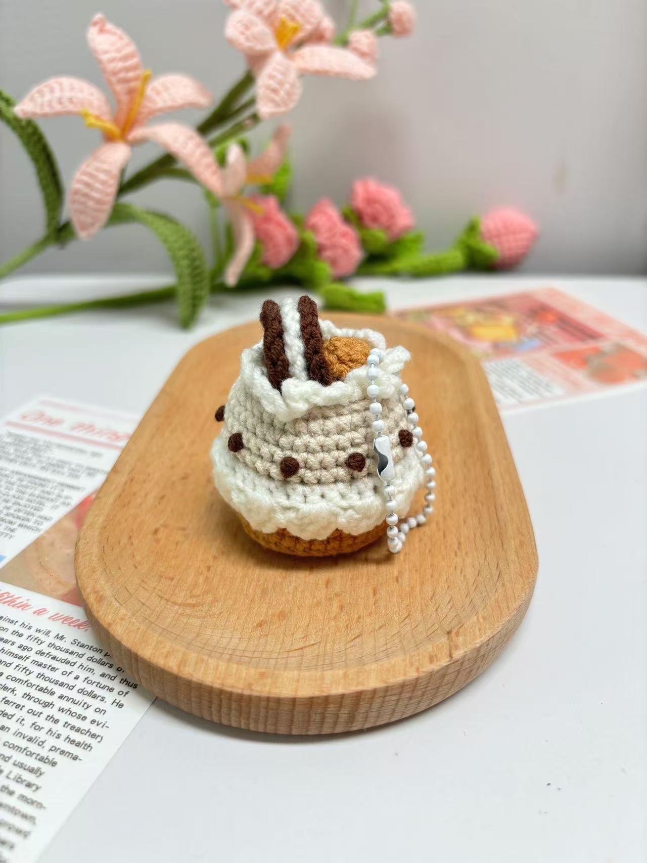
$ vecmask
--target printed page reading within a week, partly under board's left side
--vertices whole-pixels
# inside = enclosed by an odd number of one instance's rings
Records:
[[[95,639],[74,544],[135,429],[41,397],[0,420],[0,863],[31,863],[152,696]]]

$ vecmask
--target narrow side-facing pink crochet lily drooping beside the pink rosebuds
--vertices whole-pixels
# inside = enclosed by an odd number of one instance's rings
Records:
[[[220,197],[227,208],[234,232],[234,255],[224,274],[225,284],[229,287],[236,285],[254,251],[254,215],[261,211],[260,205],[242,195],[242,189],[247,185],[260,186],[272,179],[286,157],[290,135],[289,126],[280,126],[274,132],[265,153],[249,162],[238,144],[232,144],[227,150]]]

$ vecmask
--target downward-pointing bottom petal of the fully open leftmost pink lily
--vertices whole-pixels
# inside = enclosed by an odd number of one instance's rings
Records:
[[[130,158],[128,144],[111,141],[96,149],[77,171],[70,188],[70,217],[82,240],[104,227],[122,169]]]

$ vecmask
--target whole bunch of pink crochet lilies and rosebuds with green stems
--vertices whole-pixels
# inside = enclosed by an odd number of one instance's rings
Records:
[[[129,36],[103,15],[92,20],[88,42],[113,104],[95,85],[70,76],[45,81],[18,104],[0,91],[0,118],[34,163],[46,214],[43,236],[0,266],[0,277],[52,246],[90,240],[103,228],[130,223],[157,236],[176,275],[172,287],[12,312],[0,315],[0,322],[175,295],[180,323],[189,326],[210,292],[271,284],[317,290],[332,308],[375,312],[384,308],[381,293],[357,293],[340,280],[353,274],[431,276],[510,267],[524,257],[537,230],[530,219],[511,210],[472,219],[450,249],[428,253],[399,192],[370,179],[357,180],[341,208],[324,198],[305,217],[287,211],[290,129],[279,125],[258,154],[251,152],[245,135],[292,110],[308,75],[373,78],[378,37],[409,35],[414,9],[402,0],[383,0],[374,14],[356,22],[357,3],[352,2],[348,25],[336,35],[334,22],[317,0],[226,2],[230,12],[224,35],[243,55],[247,71],[215,108],[210,91],[198,81],[181,74],[152,76]],[[208,111],[195,129],[156,122],[189,107]],[[69,220],[64,220],[60,174],[35,120],[68,114],[81,117],[102,142],[72,179]],[[162,148],[166,154],[127,173],[139,145]],[[130,192],[166,179],[202,188],[213,237],[210,264],[196,236],[173,215],[127,203]]]

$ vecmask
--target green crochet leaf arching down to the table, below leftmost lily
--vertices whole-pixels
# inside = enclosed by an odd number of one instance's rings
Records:
[[[175,295],[178,300],[179,323],[183,327],[192,326],[209,294],[209,274],[202,246],[191,230],[170,216],[141,210],[131,204],[116,204],[108,225],[134,222],[153,231],[160,243],[166,247],[177,278]]]

